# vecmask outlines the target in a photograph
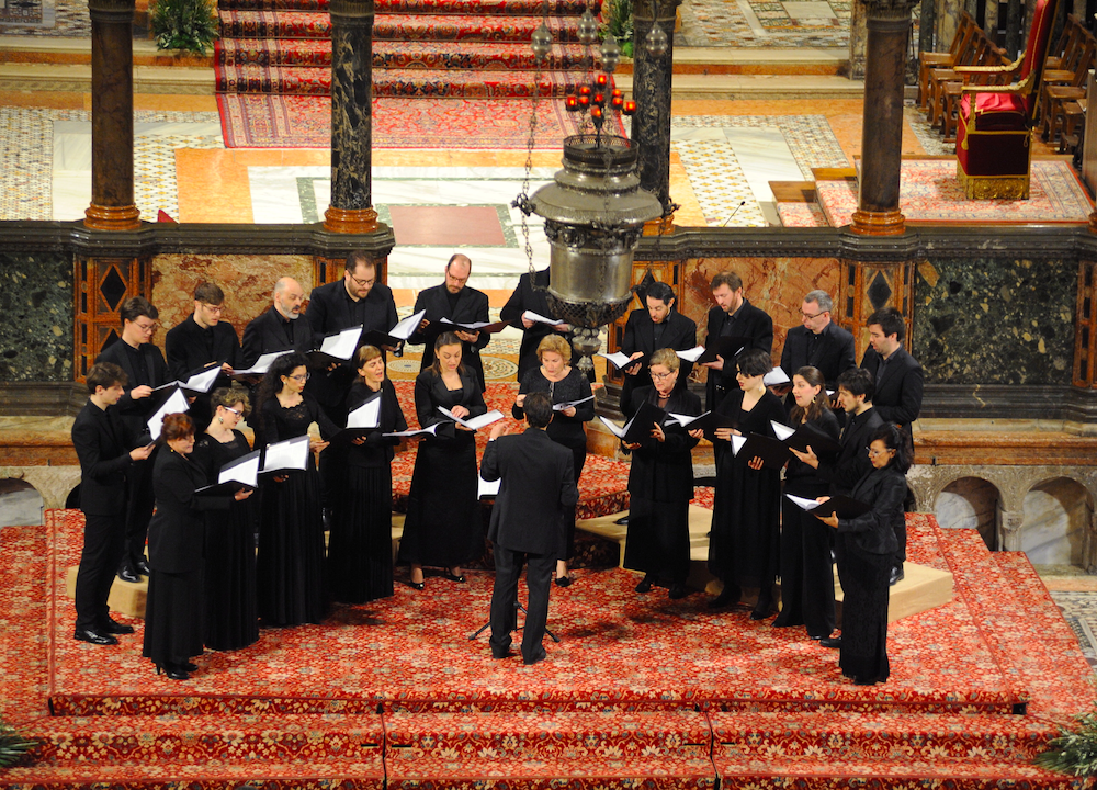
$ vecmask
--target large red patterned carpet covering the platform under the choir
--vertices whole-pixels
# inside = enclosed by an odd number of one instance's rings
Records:
[[[841,679],[836,654],[704,597],[638,596],[624,571],[554,588],[535,667],[494,662],[490,575],[428,578],[152,674],[137,634],[71,639],[64,569],[81,516],[0,539],[0,712],[42,738],[0,787],[1082,787],[1030,765],[1088,710],[1090,672],[1021,554],[908,518],[911,558],[955,575],[952,602],[890,629],[892,678]],[[47,707],[48,706],[48,707]]]

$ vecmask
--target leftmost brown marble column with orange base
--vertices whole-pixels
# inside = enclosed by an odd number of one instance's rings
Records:
[[[97,230],[140,226],[134,205],[134,0],[89,0],[91,15],[91,205]]]

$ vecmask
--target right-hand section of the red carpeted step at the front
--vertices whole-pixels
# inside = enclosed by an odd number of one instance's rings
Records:
[[[1010,714],[813,711],[713,712],[709,718],[714,749],[730,760],[1027,764],[1058,734],[1049,722]]]

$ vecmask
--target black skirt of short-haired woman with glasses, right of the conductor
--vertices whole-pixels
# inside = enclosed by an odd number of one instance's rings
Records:
[[[632,496],[624,566],[672,584],[689,576],[689,503],[657,503]]]

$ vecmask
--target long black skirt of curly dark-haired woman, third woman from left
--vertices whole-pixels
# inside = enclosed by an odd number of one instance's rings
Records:
[[[263,484],[256,562],[259,617],[264,625],[324,619],[324,519],[316,470]]]

